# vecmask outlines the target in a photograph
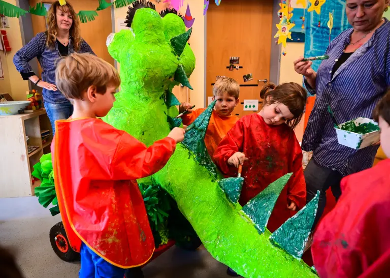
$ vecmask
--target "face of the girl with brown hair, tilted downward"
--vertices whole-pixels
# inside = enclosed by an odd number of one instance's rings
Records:
[[[270,99],[267,100],[267,102],[269,101]],[[290,112],[288,107],[280,102],[265,105],[259,112],[259,115],[264,118],[267,125],[271,126],[279,126],[282,123],[285,123],[286,120],[294,118],[294,115]]]

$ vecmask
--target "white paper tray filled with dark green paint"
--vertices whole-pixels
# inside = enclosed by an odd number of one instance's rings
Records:
[[[335,127],[339,144],[362,149],[379,142],[379,126],[372,119],[359,117]]]

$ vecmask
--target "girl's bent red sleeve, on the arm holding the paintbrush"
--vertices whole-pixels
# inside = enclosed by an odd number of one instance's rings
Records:
[[[238,169],[228,165],[228,160],[237,151],[242,151],[244,143],[244,125],[241,120],[237,121],[236,125],[226,134],[219,142],[218,148],[214,152],[213,159],[222,173],[235,176]]]

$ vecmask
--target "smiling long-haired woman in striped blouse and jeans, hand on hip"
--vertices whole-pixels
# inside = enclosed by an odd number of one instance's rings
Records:
[[[61,56],[73,52],[93,53],[90,46],[80,37],[79,19],[73,7],[67,3],[61,6],[54,2],[48,12],[47,32],[39,33],[16,52],[14,64],[24,80],[29,79],[35,85],[43,88],[45,108],[51,126],[54,121],[69,118],[73,113],[73,105],[62,95],[55,85],[55,68]],[[31,69],[28,62],[37,57],[42,68],[42,79]]]

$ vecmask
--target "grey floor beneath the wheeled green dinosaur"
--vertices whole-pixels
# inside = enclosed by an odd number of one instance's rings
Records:
[[[0,199],[0,244],[10,249],[26,278],[78,277],[80,263],[67,263],[53,252],[50,228],[59,222],[36,197]],[[144,267],[145,278],[219,278],[226,267],[204,248],[194,252],[175,246]]]

